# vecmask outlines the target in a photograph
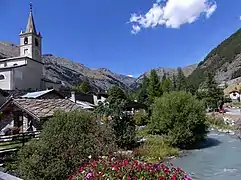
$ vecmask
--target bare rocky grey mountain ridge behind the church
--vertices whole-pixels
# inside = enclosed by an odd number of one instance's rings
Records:
[[[0,59],[19,56],[19,47],[13,43],[0,42]],[[46,78],[61,81],[66,86],[88,80],[93,90],[106,90],[112,85],[130,89],[135,78],[113,73],[108,69],[90,69],[72,60],[57,57],[52,54],[43,55]]]

